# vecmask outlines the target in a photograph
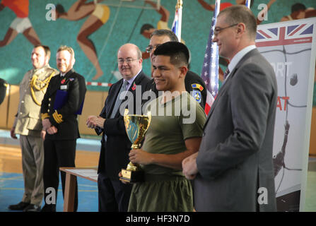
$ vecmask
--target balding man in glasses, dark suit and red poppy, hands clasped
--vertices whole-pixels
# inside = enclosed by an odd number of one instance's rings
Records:
[[[118,177],[121,169],[126,168],[129,163],[131,150],[123,111],[127,103],[129,114],[141,114],[141,95],[150,81],[142,71],[141,50],[135,44],[122,45],[117,52],[117,61],[123,78],[110,87],[100,116],[89,116],[87,119],[89,128],[95,128],[98,135],[103,132],[98,167],[98,195],[99,211],[106,212],[127,211],[131,184],[123,184]]]

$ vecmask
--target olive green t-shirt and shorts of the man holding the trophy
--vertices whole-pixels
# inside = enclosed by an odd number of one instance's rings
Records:
[[[187,92],[161,104],[161,96],[148,105],[151,124],[141,149],[148,153],[185,151],[187,138],[201,137],[206,120],[199,103]],[[192,211],[190,182],[182,171],[159,165],[141,165],[145,182],[134,184],[129,211]]]

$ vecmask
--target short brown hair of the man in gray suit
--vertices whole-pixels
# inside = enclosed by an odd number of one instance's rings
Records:
[[[257,35],[257,19],[252,11],[244,5],[230,6],[224,8],[218,13],[218,16],[225,14],[226,23],[233,25],[236,23],[245,23],[246,29],[249,31],[252,39],[256,38]]]

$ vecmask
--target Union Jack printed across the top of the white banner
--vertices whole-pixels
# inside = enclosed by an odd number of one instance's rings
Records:
[[[257,29],[256,46],[271,47],[287,44],[301,44],[312,42],[312,23],[298,22],[297,25],[282,25],[276,28]]]

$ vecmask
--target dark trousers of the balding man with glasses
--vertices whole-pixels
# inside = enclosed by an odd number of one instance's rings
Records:
[[[132,184],[123,184],[110,179],[103,173],[98,174],[99,212],[127,212]]]

